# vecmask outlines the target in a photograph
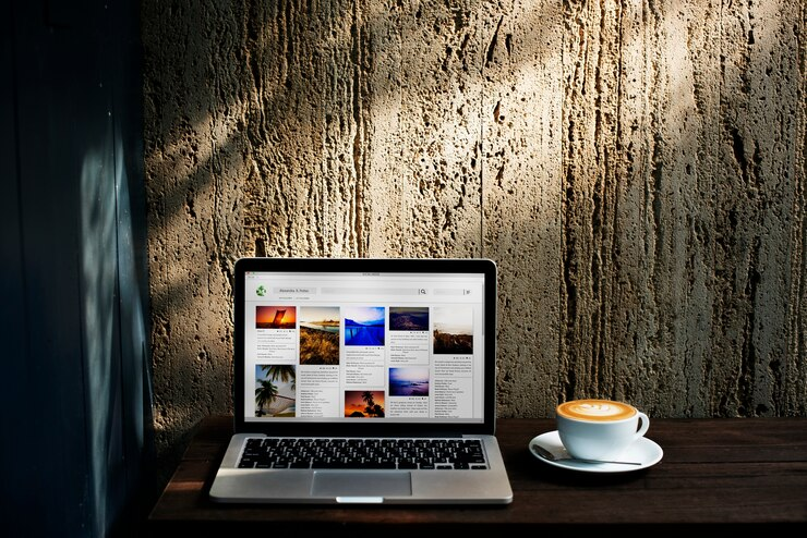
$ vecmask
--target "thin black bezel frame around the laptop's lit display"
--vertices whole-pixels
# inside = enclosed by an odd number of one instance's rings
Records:
[[[285,423],[246,421],[244,417],[244,293],[245,273],[262,272],[423,272],[474,273],[484,276],[484,405],[481,423],[443,420],[424,423]],[[233,381],[232,401],[236,432],[257,432],[284,436],[372,436],[372,435],[456,435],[494,433],[496,419],[496,331],[497,331],[496,265],[487,258],[240,258],[234,266],[233,291]]]

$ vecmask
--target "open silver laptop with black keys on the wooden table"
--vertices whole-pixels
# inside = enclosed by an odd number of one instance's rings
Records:
[[[507,504],[489,259],[242,258],[220,503]]]

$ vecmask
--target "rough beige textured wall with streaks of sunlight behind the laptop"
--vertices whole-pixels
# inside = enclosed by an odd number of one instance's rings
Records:
[[[240,256],[494,259],[499,415],[807,415],[805,5],[143,1],[158,448]]]

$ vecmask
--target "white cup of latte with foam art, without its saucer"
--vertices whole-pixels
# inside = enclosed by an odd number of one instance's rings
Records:
[[[647,433],[648,416],[624,402],[571,400],[556,408],[557,433],[566,451],[582,460],[614,460]]]

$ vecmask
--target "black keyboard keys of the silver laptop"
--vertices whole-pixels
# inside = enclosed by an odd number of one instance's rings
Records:
[[[486,469],[479,439],[249,438],[240,468]]]

